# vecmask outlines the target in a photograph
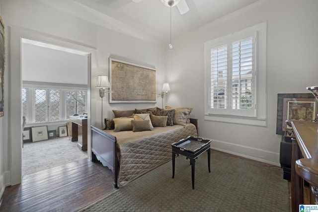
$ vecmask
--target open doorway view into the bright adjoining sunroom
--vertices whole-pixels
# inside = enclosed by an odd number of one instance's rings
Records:
[[[82,51],[21,39],[21,107],[26,118],[22,129],[22,176],[64,164],[65,161],[87,158],[87,152],[83,154],[76,142],[68,141],[68,137],[59,138],[59,128],[66,126],[69,115],[78,110],[75,99],[81,97],[87,105],[88,56]],[[83,109],[81,113],[87,113]],[[45,132],[43,138],[37,137],[35,129],[43,127],[50,134],[46,136]],[[25,133],[28,138],[24,137]],[[37,138],[40,140],[37,141]],[[56,151],[54,146],[61,149]],[[73,157],[66,160],[65,154]]]

